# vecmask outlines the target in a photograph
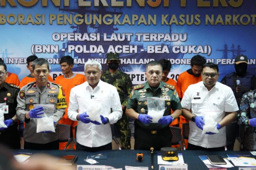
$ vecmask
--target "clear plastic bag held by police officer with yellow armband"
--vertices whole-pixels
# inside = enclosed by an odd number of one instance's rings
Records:
[[[42,132],[42,131],[52,131],[55,132],[55,127],[53,124],[53,113],[55,111],[55,106],[53,104],[34,104],[34,108],[37,107],[43,107],[44,114],[41,114],[39,116],[42,116],[42,118],[37,118],[36,123],[36,133]]]

